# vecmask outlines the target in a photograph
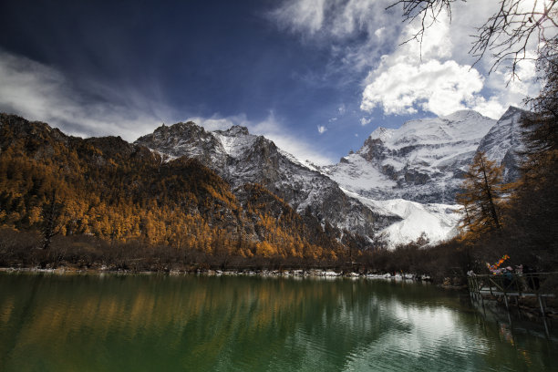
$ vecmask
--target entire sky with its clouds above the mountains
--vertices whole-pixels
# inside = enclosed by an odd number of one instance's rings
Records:
[[[301,160],[336,162],[377,127],[476,109],[499,119],[536,95],[471,67],[495,0],[454,3],[417,30],[394,0],[0,3],[0,111],[81,137],[133,141],[162,123],[246,126]],[[529,2],[529,0],[527,0]]]

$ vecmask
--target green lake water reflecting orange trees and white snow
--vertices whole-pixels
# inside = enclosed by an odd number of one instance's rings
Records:
[[[550,371],[542,325],[368,279],[0,274],[1,371]]]

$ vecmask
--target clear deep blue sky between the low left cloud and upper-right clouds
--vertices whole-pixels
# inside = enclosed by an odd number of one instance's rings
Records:
[[[257,122],[273,112],[332,160],[360,147],[378,125],[408,119],[372,113],[375,120],[361,126],[367,71],[337,70],[331,46],[281,30],[266,17],[276,4],[5,1],[0,48],[61,71],[86,100],[125,104],[134,92],[183,119],[244,114]]]

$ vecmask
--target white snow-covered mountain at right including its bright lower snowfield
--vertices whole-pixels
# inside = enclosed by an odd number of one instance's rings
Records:
[[[455,236],[460,220],[455,196],[477,150],[504,166],[504,181],[519,176],[520,121],[511,107],[498,121],[472,110],[376,129],[363,147],[321,171],[346,194],[400,221],[382,230],[390,246],[425,233],[431,243]]]

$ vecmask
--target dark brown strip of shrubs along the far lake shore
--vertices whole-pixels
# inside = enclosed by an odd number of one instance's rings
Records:
[[[46,272],[161,274],[261,274],[300,276],[366,276],[429,280],[462,287],[467,264],[453,246],[429,249],[408,244],[386,249],[346,252],[336,260],[313,257],[245,257],[224,251],[178,250],[169,245],[109,242],[90,235],[58,235],[48,250],[37,232],[0,228],[0,267]],[[461,257],[461,258],[460,258]],[[460,268],[460,262],[463,267]]]

